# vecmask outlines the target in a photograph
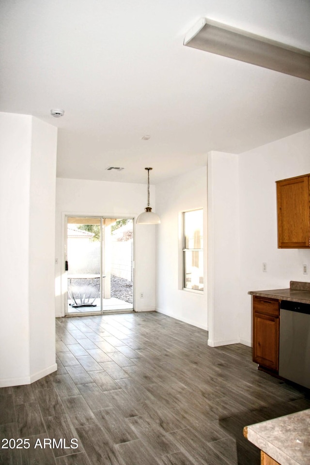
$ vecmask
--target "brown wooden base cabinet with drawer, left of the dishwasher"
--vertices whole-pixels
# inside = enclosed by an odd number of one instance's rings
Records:
[[[279,300],[253,296],[253,361],[279,371]]]

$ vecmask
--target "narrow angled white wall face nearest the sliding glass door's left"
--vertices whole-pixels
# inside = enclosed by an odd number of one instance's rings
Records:
[[[34,381],[34,373],[37,373],[37,378],[45,376],[47,367],[55,364],[56,153],[57,128],[32,118],[29,230],[31,381]],[[56,365],[54,368],[57,369]]]

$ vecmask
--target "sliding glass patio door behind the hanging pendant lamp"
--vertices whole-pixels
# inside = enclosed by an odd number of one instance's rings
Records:
[[[66,217],[65,314],[134,310],[134,219]]]

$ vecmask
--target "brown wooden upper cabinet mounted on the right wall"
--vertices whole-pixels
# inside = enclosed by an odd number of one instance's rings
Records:
[[[310,248],[310,174],[276,183],[278,248]]]

